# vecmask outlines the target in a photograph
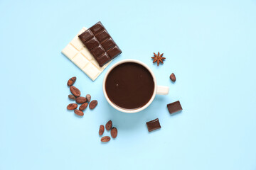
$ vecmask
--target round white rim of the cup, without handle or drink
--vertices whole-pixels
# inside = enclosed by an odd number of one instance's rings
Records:
[[[107,96],[107,92],[106,92],[106,89],[105,89],[105,84],[106,84],[106,79],[107,79],[108,74],[110,74],[110,72],[112,71],[112,69],[114,69],[114,67],[117,67],[119,64],[123,64],[125,62],[134,62],[134,63],[137,63],[137,64],[141,64],[143,67],[145,67],[146,69],[149,70],[151,76],[153,77],[153,80],[154,80],[154,92],[153,92],[150,100],[148,101],[148,103],[146,103],[146,105],[142,106],[141,108],[131,109],[131,110],[124,109],[124,108],[119,108],[118,106],[114,105],[114,103],[112,103],[112,101],[110,101],[110,98],[108,98],[108,96]],[[113,64],[110,67],[110,69],[107,70],[107,72],[105,74],[105,77],[103,79],[102,87],[103,87],[103,94],[104,94],[105,98],[107,99],[107,102],[110,103],[110,105],[113,108],[117,109],[117,111],[121,111],[121,112],[124,112],[124,113],[137,113],[137,112],[143,111],[145,108],[147,108],[152,103],[152,101],[154,101],[154,98],[156,96],[157,84],[156,84],[156,77],[155,77],[154,73],[152,72],[152,70],[146,64],[144,64],[144,62],[141,62],[139,60],[134,60],[134,59],[126,59],[126,60],[121,60],[121,61]]]

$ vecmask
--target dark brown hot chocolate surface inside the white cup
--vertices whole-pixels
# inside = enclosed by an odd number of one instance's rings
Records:
[[[116,106],[125,109],[141,108],[154,93],[154,79],[140,64],[126,62],[114,67],[105,84],[107,96]]]

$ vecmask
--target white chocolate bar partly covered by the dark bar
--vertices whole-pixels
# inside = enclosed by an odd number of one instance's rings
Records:
[[[87,28],[82,28],[78,35],[83,33]],[[62,50],[63,55],[68,57],[74,64],[76,64],[82,72],[85,72],[92,81],[95,81],[98,76],[103,72],[103,70],[110,64],[108,62],[103,67],[100,67],[95,58],[91,55],[87,47],[81,42],[75,35],[75,38]]]

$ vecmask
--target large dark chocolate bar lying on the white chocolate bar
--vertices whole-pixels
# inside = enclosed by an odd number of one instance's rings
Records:
[[[95,57],[100,67],[122,53],[101,22],[85,30],[78,37],[87,49],[90,50],[90,53]]]

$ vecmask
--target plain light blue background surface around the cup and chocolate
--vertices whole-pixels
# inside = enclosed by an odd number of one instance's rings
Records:
[[[123,51],[111,64],[145,62],[168,96],[141,113],[109,106],[106,70],[92,82],[60,53],[97,21]],[[0,1],[0,23],[1,170],[256,169],[255,0]],[[99,102],[82,118],[66,110],[73,76]],[[177,100],[183,111],[170,115]],[[155,118],[162,128],[149,133]],[[119,133],[102,144],[98,128],[110,119]]]

